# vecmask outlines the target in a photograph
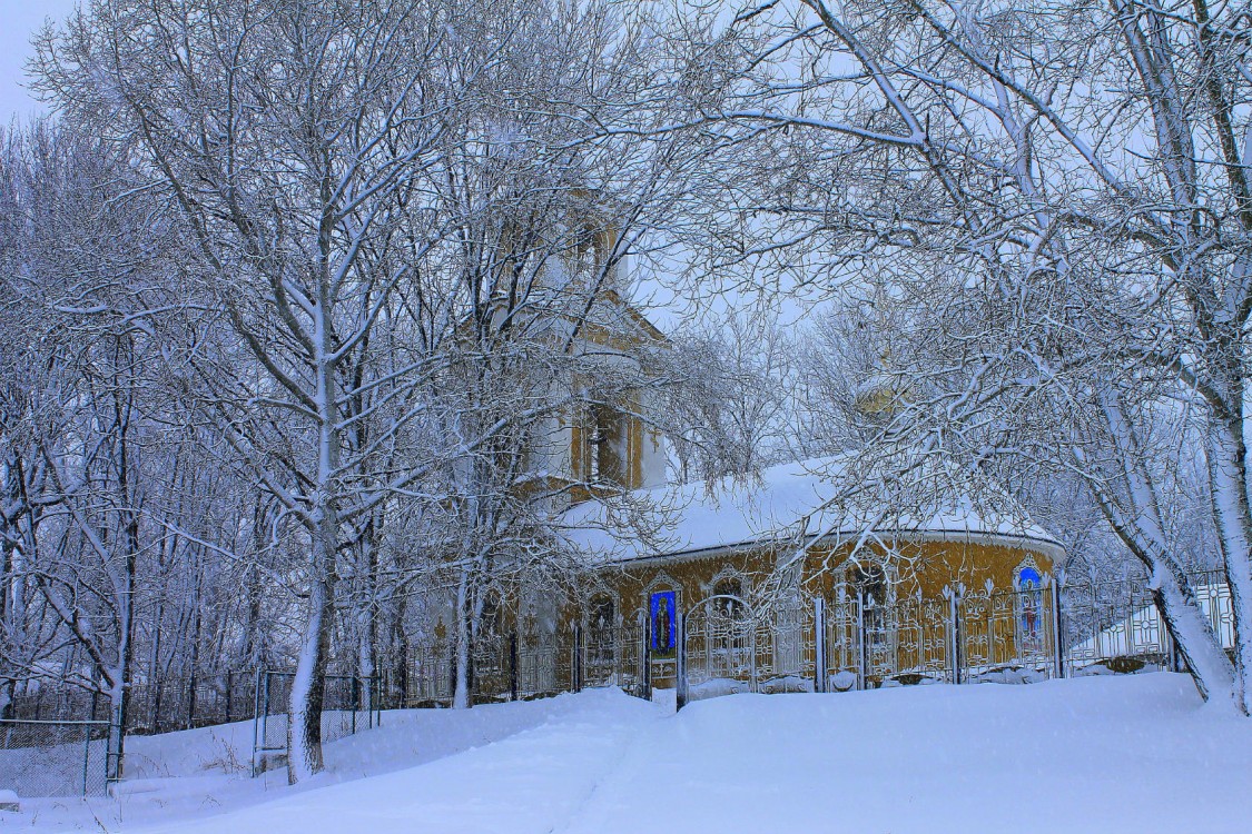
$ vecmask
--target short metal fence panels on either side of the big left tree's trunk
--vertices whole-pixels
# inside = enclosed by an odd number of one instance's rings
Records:
[[[263,669],[257,673],[253,719],[252,774],[285,761],[287,709],[295,673]],[[376,693],[381,679],[356,675],[326,675],[322,695],[322,741],[334,741],[382,723],[382,704]]]

